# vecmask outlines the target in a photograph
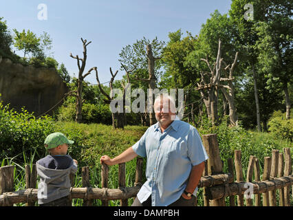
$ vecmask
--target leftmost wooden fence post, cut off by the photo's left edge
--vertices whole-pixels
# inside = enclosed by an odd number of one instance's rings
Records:
[[[0,167],[0,195],[4,192],[14,191],[14,166],[2,166]],[[13,206],[10,204],[8,199],[6,201],[6,206]]]

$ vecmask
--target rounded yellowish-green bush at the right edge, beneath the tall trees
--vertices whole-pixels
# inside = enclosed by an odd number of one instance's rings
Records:
[[[293,140],[293,118],[285,119],[285,113],[275,111],[268,122],[268,131],[274,133],[276,137],[284,140]]]

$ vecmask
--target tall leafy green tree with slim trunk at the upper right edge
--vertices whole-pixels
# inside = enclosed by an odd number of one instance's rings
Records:
[[[290,93],[293,83],[292,1],[270,1],[265,17],[257,23],[259,66],[267,79],[267,89],[278,87],[285,94],[286,119],[290,119]]]

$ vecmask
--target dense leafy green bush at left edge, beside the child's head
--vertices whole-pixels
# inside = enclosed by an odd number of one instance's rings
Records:
[[[49,116],[36,119],[32,113],[9,109],[0,103],[0,159],[15,157],[19,162],[34,155],[45,155],[44,140],[54,132],[54,121]]]

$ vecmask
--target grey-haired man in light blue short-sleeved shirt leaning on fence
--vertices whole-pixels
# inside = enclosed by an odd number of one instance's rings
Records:
[[[194,206],[197,184],[208,159],[201,137],[195,129],[175,115],[175,102],[164,94],[155,99],[156,124],[130,148],[111,159],[108,165],[146,157],[146,182],[132,206]]]

